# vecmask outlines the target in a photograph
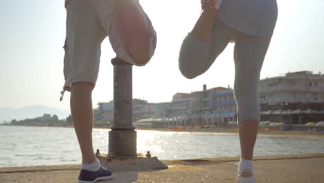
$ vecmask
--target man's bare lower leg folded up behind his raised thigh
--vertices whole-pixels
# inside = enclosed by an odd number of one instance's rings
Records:
[[[134,0],[116,0],[116,26],[126,51],[137,64],[150,55],[150,28]]]

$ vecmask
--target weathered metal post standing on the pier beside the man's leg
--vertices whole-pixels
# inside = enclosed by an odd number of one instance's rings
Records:
[[[114,123],[109,132],[109,155],[136,157],[133,125],[132,64],[114,58]]]

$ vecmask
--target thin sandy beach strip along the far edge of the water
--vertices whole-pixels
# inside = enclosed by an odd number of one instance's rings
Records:
[[[3,124],[2,124],[3,125]],[[38,128],[73,128],[73,126],[28,126],[28,125],[4,125],[4,126],[22,126],[22,127],[38,127]],[[105,129],[93,127],[93,129]],[[158,132],[198,132],[198,133],[215,133],[215,134],[237,134],[237,128],[195,128],[195,129],[172,129],[172,128],[136,128],[135,130],[147,130],[147,131],[158,131]],[[324,133],[319,132],[307,132],[307,131],[258,131],[260,136],[271,136],[271,137],[291,137],[291,138],[324,138]]]

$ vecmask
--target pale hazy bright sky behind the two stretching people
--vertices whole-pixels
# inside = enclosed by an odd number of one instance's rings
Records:
[[[64,85],[64,0],[0,4],[0,108],[46,105],[69,111],[69,92],[59,100]],[[179,49],[199,17],[200,0],[141,0],[141,4],[156,29],[158,43],[152,60],[145,67],[133,68],[134,98],[159,103],[172,101],[177,92],[199,91],[204,84],[208,88],[233,87],[234,44],[229,44],[202,76],[188,80],[179,71]],[[278,8],[278,22],[260,78],[283,76],[288,71],[324,73],[324,1],[278,0]],[[113,99],[110,60],[115,56],[106,39],[93,107]]]

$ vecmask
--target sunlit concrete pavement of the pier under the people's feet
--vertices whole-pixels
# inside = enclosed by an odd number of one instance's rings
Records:
[[[166,170],[116,172],[100,183],[235,182],[238,157],[163,161]],[[0,182],[77,182],[79,165],[0,168]],[[323,183],[324,154],[255,157],[256,182]]]

